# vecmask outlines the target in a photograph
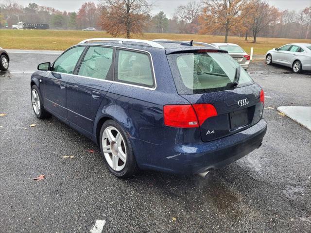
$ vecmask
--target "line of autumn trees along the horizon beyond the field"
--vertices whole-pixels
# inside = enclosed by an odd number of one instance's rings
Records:
[[[151,15],[147,0],[88,1],[77,12],[59,11],[29,3],[23,7],[12,0],[0,4],[0,27],[19,20],[47,23],[52,29],[81,30],[95,27],[112,36],[149,33],[199,33],[252,37],[311,38],[311,7],[298,12],[279,10],[265,0],[201,0],[179,5],[173,17],[162,11]]]

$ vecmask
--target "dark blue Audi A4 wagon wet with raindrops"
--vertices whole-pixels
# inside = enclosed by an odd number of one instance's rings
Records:
[[[226,51],[192,41],[84,40],[38,66],[31,100],[38,118],[96,142],[118,177],[206,177],[259,148],[267,129],[261,87]]]

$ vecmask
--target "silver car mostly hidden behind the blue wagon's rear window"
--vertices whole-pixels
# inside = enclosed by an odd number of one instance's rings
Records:
[[[212,43],[211,45],[218,49],[228,51],[229,55],[245,70],[249,67],[250,56],[239,45],[232,43]]]

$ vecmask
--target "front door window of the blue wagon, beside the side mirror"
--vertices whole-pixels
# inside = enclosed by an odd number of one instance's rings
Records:
[[[55,62],[53,71],[72,74],[85,46],[74,47],[63,53]]]

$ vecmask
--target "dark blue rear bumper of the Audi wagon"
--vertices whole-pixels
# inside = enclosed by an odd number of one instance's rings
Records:
[[[266,131],[267,123],[261,119],[256,125],[244,131],[218,140],[191,145],[174,145],[170,156],[163,157],[159,154],[163,148],[150,148],[149,155],[157,157],[156,165],[144,163],[139,166],[143,169],[177,174],[196,174],[209,168],[226,166],[259,148]]]

